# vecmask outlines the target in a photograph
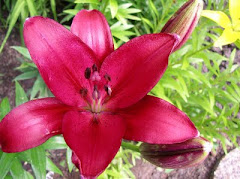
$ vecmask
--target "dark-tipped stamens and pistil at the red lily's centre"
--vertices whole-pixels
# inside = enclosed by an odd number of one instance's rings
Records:
[[[112,93],[109,85],[111,77],[108,74],[105,74],[102,79],[99,75],[96,64],[94,64],[91,68],[86,68],[84,76],[89,81],[90,88],[82,88],[80,89],[80,93],[89,104],[88,110],[92,113],[100,113],[103,111],[102,106],[104,100],[106,97],[110,97]]]

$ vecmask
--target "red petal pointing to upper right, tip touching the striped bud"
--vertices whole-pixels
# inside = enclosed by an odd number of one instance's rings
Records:
[[[101,74],[111,77],[106,107],[124,108],[143,98],[166,70],[176,41],[170,34],[143,35],[111,53],[101,67]]]

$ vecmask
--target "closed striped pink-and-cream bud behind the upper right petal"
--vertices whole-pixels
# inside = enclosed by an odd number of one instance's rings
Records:
[[[192,34],[202,10],[202,0],[189,0],[165,24],[161,32],[180,36],[179,43],[174,51],[179,49]]]

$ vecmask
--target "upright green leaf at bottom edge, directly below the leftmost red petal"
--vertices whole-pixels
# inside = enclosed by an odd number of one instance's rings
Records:
[[[42,146],[31,149],[31,164],[36,179],[46,178],[46,154]]]

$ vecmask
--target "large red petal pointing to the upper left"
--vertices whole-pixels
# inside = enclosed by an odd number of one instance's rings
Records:
[[[33,17],[24,24],[24,41],[52,93],[71,106],[84,106],[80,90],[88,89],[84,72],[95,55],[78,37],[57,22]]]

